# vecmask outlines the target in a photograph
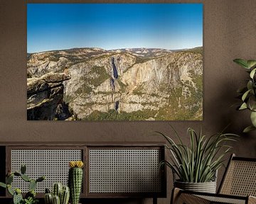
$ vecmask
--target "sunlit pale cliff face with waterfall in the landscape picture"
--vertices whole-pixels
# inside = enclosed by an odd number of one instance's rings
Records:
[[[34,53],[27,73],[39,78],[28,80],[28,96],[33,89],[41,94],[29,100],[46,98],[42,90],[53,86],[46,81],[53,72],[71,74],[61,86],[63,101],[80,120],[202,120],[202,47]]]

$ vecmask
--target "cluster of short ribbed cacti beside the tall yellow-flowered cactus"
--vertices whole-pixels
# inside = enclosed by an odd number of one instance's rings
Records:
[[[63,186],[61,183],[54,183],[52,193],[50,193],[49,188],[46,188],[46,204],[68,204],[69,198],[70,189],[68,186]]]

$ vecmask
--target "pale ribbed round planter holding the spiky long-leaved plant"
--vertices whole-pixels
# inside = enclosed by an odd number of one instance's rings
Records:
[[[210,181],[206,183],[187,183],[181,181],[175,181],[174,186],[187,191],[196,191],[203,193],[216,193],[216,181]]]

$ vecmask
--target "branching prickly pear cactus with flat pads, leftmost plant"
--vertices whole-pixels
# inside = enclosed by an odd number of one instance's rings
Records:
[[[18,176],[23,181],[28,182],[28,193],[26,193],[25,197],[23,198],[21,194],[20,188],[13,188],[11,183],[14,181],[14,176]],[[45,176],[41,176],[38,179],[31,179],[28,175],[26,175],[26,166],[21,165],[21,172],[9,172],[6,176],[6,183],[0,182],[0,186],[3,188],[7,188],[7,191],[13,196],[13,204],[35,204],[38,203],[36,199],[36,186],[38,182],[45,180]]]

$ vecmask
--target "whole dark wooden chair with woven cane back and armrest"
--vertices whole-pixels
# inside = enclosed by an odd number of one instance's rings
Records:
[[[256,203],[256,159],[232,154],[218,193],[198,193],[174,188],[171,204]]]

